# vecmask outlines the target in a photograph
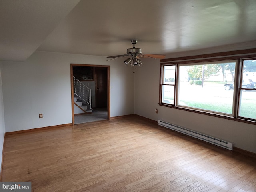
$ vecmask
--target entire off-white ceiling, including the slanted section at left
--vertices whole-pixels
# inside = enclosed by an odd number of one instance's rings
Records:
[[[256,0],[0,0],[0,16],[7,61],[35,50],[126,54],[131,39],[144,54],[256,47]]]

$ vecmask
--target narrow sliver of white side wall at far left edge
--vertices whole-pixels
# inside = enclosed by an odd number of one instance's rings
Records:
[[[1,165],[2,165],[4,133],[5,133],[5,126],[4,126],[4,103],[3,103],[2,77],[1,77],[1,68],[0,68],[0,168],[1,168]],[[0,173],[0,175],[1,175],[1,173]]]

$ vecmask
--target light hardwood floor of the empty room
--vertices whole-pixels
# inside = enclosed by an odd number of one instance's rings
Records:
[[[255,192],[256,159],[126,116],[6,136],[2,180],[32,192]]]

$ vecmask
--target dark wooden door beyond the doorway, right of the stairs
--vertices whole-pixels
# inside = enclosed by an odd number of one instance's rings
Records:
[[[108,106],[108,78],[107,68],[95,68],[95,104],[96,108]]]

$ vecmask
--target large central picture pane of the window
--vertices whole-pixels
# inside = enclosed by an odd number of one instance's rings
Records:
[[[235,65],[224,62],[180,66],[178,105],[232,114]]]

